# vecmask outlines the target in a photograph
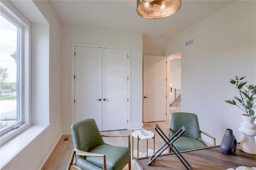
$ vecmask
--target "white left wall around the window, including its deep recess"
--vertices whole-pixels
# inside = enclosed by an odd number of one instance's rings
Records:
[[[29,138],[28,142],[20,147],[19,151],[1,169],[41,169],[62,134],[61,24],[48,1],[34,1],[33,3],[29,0],[17,2],[16,5],[32,21],[31,114],[33,126],[18,135],[20,140],[16,141],[17,144],[12,148],[18,148],[26,138]],[[48,23],[36,20],[34,12],[38,10]],[[41,130],[38,131],[38,129]],[[34,134],[36,136],[32,137]]]

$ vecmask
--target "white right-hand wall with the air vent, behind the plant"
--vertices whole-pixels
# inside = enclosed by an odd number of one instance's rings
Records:
[[[225,103],[238,95],[229,79],[256,84],[256,2],[235,1],[172,38],[166,56],[182,51],[182,111],[198,115],[200,128],[220,144],[226,128],[240,141],[241,110]],[[195,38],[195,44],[184,43]]]

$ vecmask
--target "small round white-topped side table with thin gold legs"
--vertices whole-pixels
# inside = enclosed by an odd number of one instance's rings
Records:
[[[145,132],[146,136],[142,135],[142,132]],[[148,139],[153,139],[153,153],[155,152],[155,134],[149,130],[144,130],[144,129],[141,129],[141,130],[134,130],[132,132],[132,159],[134,158],[138,158],[139,157],[139,141],[140,139],[146,139],[147,140],[147,155],[148,156]],[[134,157],[134,154],[133,154],[133,147],[134,147],[134,144],[133,144],[133,140],[134,138],[137,138],[137,157]]]

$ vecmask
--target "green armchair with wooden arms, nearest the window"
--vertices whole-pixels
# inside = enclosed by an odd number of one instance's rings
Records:
[[[74,150],[68,170],[122,170],[131,169],[130,135],[103,135],[94,119],[77,121],[71,125]],[[106,144],[105,137],[128,137],[128,147]],[[75,156],[75,164],[73,164]]]

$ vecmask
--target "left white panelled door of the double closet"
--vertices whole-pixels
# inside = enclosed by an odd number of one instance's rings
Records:
[[[102,48],[75,51],[75,121],[93,118],[102,130]]]

